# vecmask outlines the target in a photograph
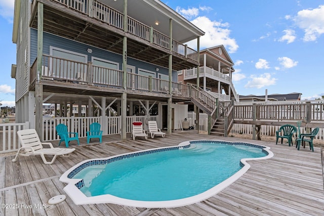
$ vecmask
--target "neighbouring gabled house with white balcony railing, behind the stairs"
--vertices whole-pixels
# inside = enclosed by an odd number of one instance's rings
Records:
[[[233,61],[223,45],[200,51],[199,87],[219,98],[237,101],[238,95],[232,83]],[[178,71],[178,82],[197,87],[197,68]]]

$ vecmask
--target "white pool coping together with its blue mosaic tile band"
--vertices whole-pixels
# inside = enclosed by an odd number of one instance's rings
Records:
[[[177,149],[184,149],[189,148],[191,144],[194,142],[219,142],[227,145],[248,145],[253,146],[256,148],[263,149],[263,151],[267,154],[264,157],[258,157],[258,158],[242,158],[240,160],[240,164],[242,168],[235,172],[235,174],[228,179],[224,180],[223,182],[219,183],[218,185],[212,187],[211,189],[183,199],[176,199],[176,200],[168,200],[168,201],[138,201],[138,200],[130,200],[125,198],[116,197],[110,194],[105,195],[99,195],[99,196],[93,196],[93,197],[87,197],[82,191],[79,190],[79,188],[83,187],[83,180],[82,179],[71,179],[78,171],[82,170],[83,168],[89,166],[89,165],[96,165],[96,164],[105,164],[103,161],[106,161],[106,163],[110,163],[116,160],[121,160],[124,158],[129,157],[136,157],[139,155],[144,154],[151,154],[154,152],[162,152],[162,151],[170,151],[170,150],[177,150]],[[64,183],[68,183],[67,186],[63,188],[63,190],[66,192],[66,194],[72,199],[72,201],[77,204],[96,204],[96,203],[113,203],[113,204],[119,204],[119,205],[127,205],[127,206],[133,206],[133,207],[145,207],[145,208],[171,208],[171,207],[180,207],[185,206],[193,203],[197,203],[203,200],[206,200],[217,193],[224,190],[226,187],[234,183],[237,179],[239,179],[242,175],[244,175],[248,169],[251,167],[250,164],[247,162],[249,160],[261,160],[261,159],[268,159],[273,157],[273,153],[270,151],[270,147],[263,146],[263,145],[257,145],[252,144],[248,142],[230,142],[230,141],[217,141],[217,140],[191,140],[191,141],[185,141],[180,143],[177,146],[171,146],[171,147],[161,147],[161,148],[152,148],[152,149],[146,149],[146,150],[140,150],[125,154],[119,154],[110,156],[107,158],[94,158],[94,159],[88,159],[84,160],[82,162],[79,162],[78,164],[72,166],[70,169],[64,172],[64,174],[60,177],[60,181]]]

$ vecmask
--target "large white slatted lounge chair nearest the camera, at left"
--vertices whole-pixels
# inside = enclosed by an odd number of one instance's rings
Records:
[[[74,148],[53,148],[52,143],[41,143],[35,129],[23,129],[18,131],[17,135],[21,143],[21,148],[18,150],[16,157],[12,159],[13,162],[16,162],[18,155],[41,155],[45,164],[52,164],[57,156],[63,155],[68,157],[68,154],[75,150]],[[49,145],[50,148],[43,148],[43,145]],[[19,153],[21,150],[24,150],[24,153]],[[53,155],[52,161],[47,161],[45,155]]]

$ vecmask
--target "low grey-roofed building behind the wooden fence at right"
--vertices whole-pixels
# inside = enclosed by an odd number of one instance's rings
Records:
[[[239,102],[258,102],[258,101],[300,101],[301,93],[272,94],[272,95],[240,95]]]

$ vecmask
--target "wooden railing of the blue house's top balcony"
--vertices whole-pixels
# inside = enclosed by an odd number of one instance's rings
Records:
[[[124,30],[124,14],[96,0],[53,0],[89,17],[98,19],[118,29]],[[170,49],[170,37],[156,31],[131,17],[127,17],[127,31],[160,47]],[[198,61],[197,51],[172,40],[172,51],[186,58]]]

